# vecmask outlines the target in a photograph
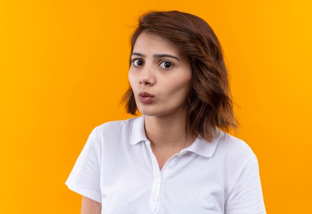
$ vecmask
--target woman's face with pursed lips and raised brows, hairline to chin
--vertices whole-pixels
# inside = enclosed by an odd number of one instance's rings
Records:
[[[136,40],[131,59],[129,82],[139,111],[147,116],[178,113],[192,78],[188,57],[168,40],[143,32]],[[141,92],[155,97],[140,98]]]

